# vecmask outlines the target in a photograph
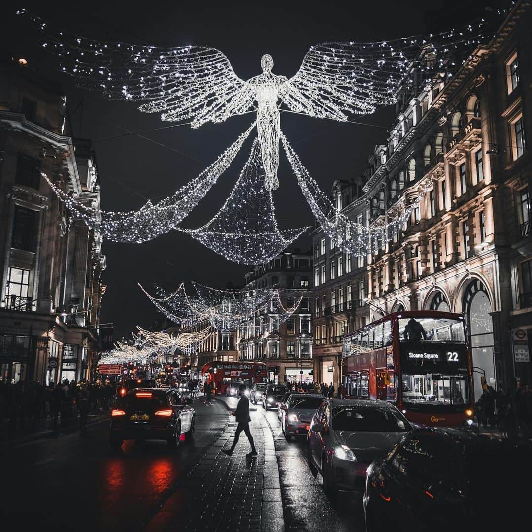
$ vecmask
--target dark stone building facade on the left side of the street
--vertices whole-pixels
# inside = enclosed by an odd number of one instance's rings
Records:
[[[105,255],[41,172],[99,207],[96,160],[60,87],[23,63],[0,65],[0,378],[79,380],[97,360]]]

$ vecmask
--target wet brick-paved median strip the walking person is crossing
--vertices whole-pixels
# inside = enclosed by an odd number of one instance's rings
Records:
[[[231,398],[215,396],[213,399],[231,408]],[[236,430],[235,418],[228,415],[220,438],[145,530],[284,531],[273,434],[260,413],[252,412],[251,417],[251,433],[259,454],[253,459],[246,456],[250,445],[244,434],[232,456],[221,452],[222,447],[230,446]]]

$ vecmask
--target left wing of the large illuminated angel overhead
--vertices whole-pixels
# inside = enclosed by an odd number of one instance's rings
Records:
[[[63,72],[107,98],[145,102],[141,111],[192,120],[194,128],[252,108],[253,93],[215,48],[104,43],[55,31],[26,10],[18,14],[42,32],[43,47],[59,58]]]

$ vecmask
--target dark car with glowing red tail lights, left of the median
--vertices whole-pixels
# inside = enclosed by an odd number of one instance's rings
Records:
[[[185,434],[194,435],[192,399],[176,389],[130,390],[111,412],[109,442],[119,450],[126,439],[164,439],[179,445]]]

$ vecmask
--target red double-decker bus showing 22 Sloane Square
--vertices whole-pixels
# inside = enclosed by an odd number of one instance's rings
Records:
[[[420,425],[472,424],[471,349],[462,315],[406,311],[344,338],[343,397],[392,402]]]

